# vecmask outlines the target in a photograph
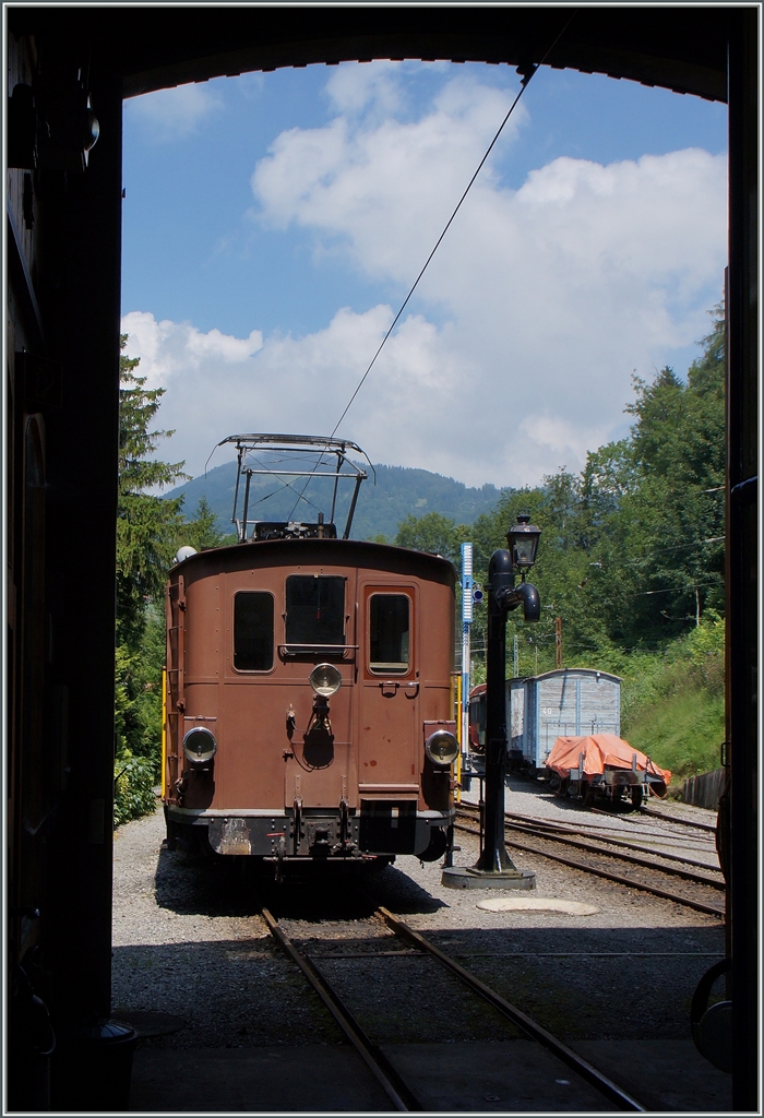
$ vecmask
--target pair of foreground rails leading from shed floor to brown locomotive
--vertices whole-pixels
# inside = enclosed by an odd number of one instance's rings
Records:
[[[330,1011],[337,1022],[346,1039],[353,1044],[359,1055],[380,1083],[392,1106],[398,1111],[422,1111],[424,1107],[417,1098],[414,1091],[404,1081],[394,1065],[385,1057],[384,1052],[373,1043],[364,1029],[361,1026],[352,1010],[340,996],[336,988],[321,970],[316,960],[306,951],[300,950],[295,941],[286,934],[284,928],[271,912],[264,908],[262,917],[268,926],[271,936],[279,944],[285,954],[292,959],[309,983],[313,991],[318,995],[324,1006]],[[394,937],[402,940],[407,947],[413,948],[422,958],[431,957],[438,960],[442,967],[447,968],[474,995],[484,1003],[493,1006],[494,1010],[503,1014],[513,1025],[517,1026],[528,1039],[535,1041],[556,1057],[562,1063],[571,1069],[582,1080],[593,1087],[603,1098],[619,1110],[646,1112],[646,1108],[637,1101],[628,1091],[619,1087],[608,1076],[598,1068],[584,1060],[576,1052],[570,1049],[562,1041],[557,1040],[543,1025],[522,1010],[507,1002],[469,970],[462,967],[450,955],[447,955],[439,947],[432,944],[420,932],[410,928],[400,917],[390,912],[386,908],[379,908],[375,912],[379,920],[384,921]],[[378,955],[401,956],[411,953],[378,951]]]

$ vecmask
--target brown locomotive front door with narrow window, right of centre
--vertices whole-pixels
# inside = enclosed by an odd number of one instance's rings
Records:
[[[359,793],[367,799],[414,799],[422,748],[417,588],[366,585],[359,605]]]

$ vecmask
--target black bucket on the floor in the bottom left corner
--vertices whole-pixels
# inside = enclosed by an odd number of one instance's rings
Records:
[[[126,1110],[137,1039],[132,1025],[104,1017],[63,1033],[54,1057],[51,1109]]]

